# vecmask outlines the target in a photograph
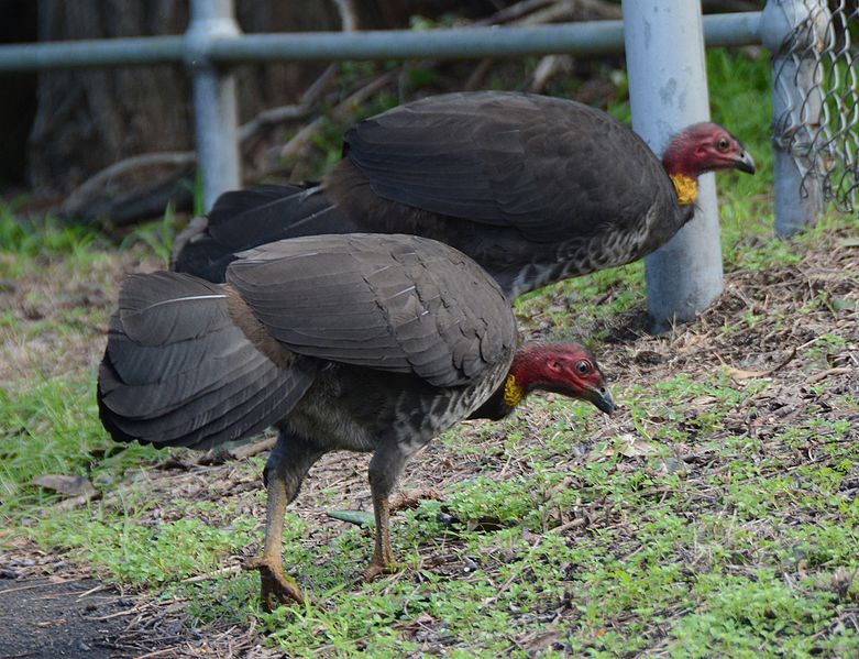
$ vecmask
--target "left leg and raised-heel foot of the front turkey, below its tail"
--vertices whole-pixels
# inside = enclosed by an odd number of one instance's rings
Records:
[[[274,609],[278,604],[305,602],[295,581],[284,574],[284,515],[286,506],[298,495],[308,470],[321,454],[322,451],[315,446],[282,430],[265,463],[263,477],[268,494],[265,506],[265,545],[263,556],[249,561],[244,569],[260,571],[260,594],[266,611]]]

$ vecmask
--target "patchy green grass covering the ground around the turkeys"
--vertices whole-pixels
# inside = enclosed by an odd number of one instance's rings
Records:
[[[764,277],[812,276],[808,255],[855,229],[833,217],[794,241],[769,238],[768,66],[716,51],[708,74],[714,118],[761,166],[757,177],[719,178],[726,268],[737,287],[752,281],[744,295],[770,295]],[[24,228],[0,213],[0,279],[41,282],[47,268],[113,299],[121,270],[163,262],[173,224],[167,215],[140,230],[118,257],[98,234],[51,221]],[[319,514],[355,497],[365,504],[365,476],[331,459],[329,479],[309,480],[284,534],[288,570],[322,606],[273,613],[258,608],[254,575],[224,570],[258,551],[263,460],[175,469],[151,448],[114,444],[92,396],[97,352],[71,372],[56,366],[56,352],[36,355],[22,363],[37,369],[0,389],[0,547],[35,545],[108,582],[187,600],[195,625],[253,623],[295,657],[856,656],[859,499],[848,493],[859,404],[844,380],[804,380],[857,345],[855,318],[845,320],[855,296],[825,282],[801,281],[810,293],[791,306],[761,294],[734,310],[726,295],[685,333],[626,342],[618,326],[645,300],[640,263],[526,296],[517,304],[526,327],[587,336],[612,363],[620,419],[543,398],[511,420],[445,433],[406,477],[440,483],[444,501],[395,517],[401,570],[366,585],[352,582],[370,559],[371,531]],[[104,327],[111,304],[27,315],[53,308],[64,286],[15,293],[16,306],[0,315],[4,342],[31,350],[54,332],[69,345],[100,344],[91,328]],[[840,320],[803,341],[783,377],[731,375],[727,364],[788,349],[768,337],[797,317],[807,326],[827,316]],[[706,341],[705,356],[692,341]],[[671,361],[660,366],[663,356]],[[174,462],[190,460],[177,452]],[[87,476],[100,498],[59,509],[58,495],[31,484],[44,473]]]

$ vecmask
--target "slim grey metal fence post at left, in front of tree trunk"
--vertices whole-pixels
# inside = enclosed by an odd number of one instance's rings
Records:
[[[185,63],[194,73],[197,161],[207,211],[221,193],[241,186],[235,76],[209,57],[214,41],[238,36],[232,0],[191,0]]]

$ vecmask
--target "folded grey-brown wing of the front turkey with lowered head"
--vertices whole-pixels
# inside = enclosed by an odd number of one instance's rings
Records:
[[[434,241],[321,235],[240,256],[228,281],[268,332],[298,354],[451,386],[505,359],[516,342],[497,285],[471,260]],[[466,359],[475,345],[475,359]]]

